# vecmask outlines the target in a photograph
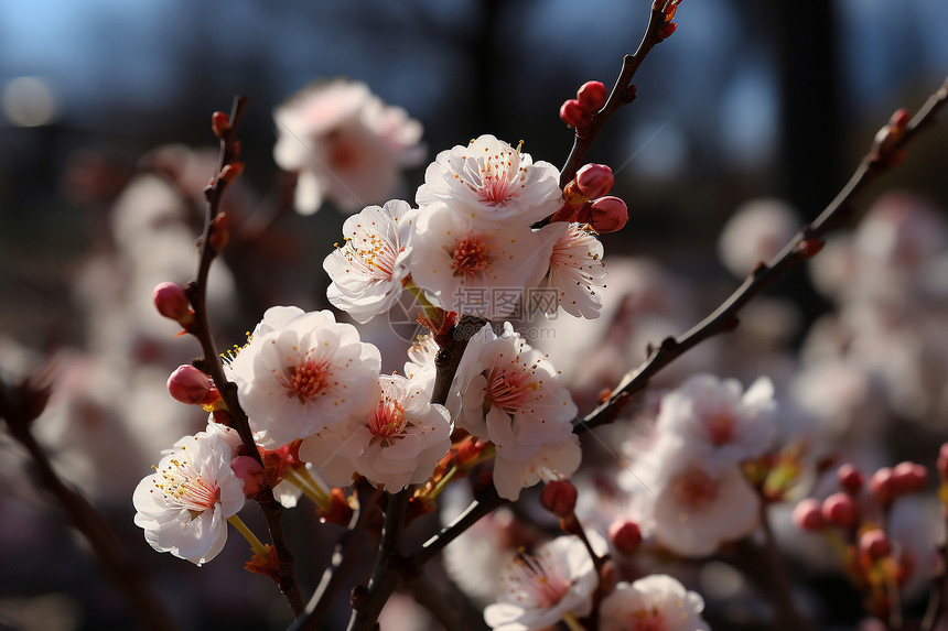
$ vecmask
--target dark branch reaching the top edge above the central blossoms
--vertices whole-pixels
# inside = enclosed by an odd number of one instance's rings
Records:
[[[577,129],[573,138],[573,148],[570,150],[570,155],[560,172],[560,188],[563,188],[569,182],[575,177],[577,171],[582,166],[586,154],[599,137],[606,121],[612,118],[612,115],[624,105],[632,102],[635,98],[635,87],[632,85],[632,79],[635,73],[638,72],[642,62],[657,44],[662,42],[662,26],[666,22],[666,11],[670,4],[669,0],[655,0],[651,4],[651,14],[648,17],[648,25],[645,28],[645,35],[638,44],[638,48],[632,55],[625,55],[622,59],[622,70],[618,78],[608,95],[603,108],[593,116],[592,122],[584,128]]]

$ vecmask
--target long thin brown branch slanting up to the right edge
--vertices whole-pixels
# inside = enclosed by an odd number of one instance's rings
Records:
[[[768,263],[760,263],[744,280],[744,283],[711,315],[683,335],[662,340],[657,349],[651,350],[648,359],[623,377],[608,400],[585,417],[575,421],[578,428],[592,428],[608,423],[615,416],[617,407],[629,395],[644,390],[648,385],[649,379],[659,370],[705,339],[730,331],[737,326],[737,314],[744,305],[819,251],[822,247],[822,237],[848,218],[850,204],[857,195],[882,173],[904,159],[904,149],[908,141],[935,122],[935,116],[945,107],[946,101],[948,101],[948,79],[928,98],[907,124],[901,127],[893,120],[883,127],[869,154],[863,157],[847,185],[819,217],[811,224],[804,226],[796,237]]]

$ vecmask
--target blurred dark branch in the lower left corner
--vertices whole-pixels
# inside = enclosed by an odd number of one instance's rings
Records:
[[[118,545],[108,522],[86,498],[60,478],[33,436],[32,422],[45,407],[47,398],[47,391],[33,388],[29,380],[17,389],[0,380],[0,418],[7,421],[10,435],[30,454],[39,485],[58,502],[73,527],[89,542],[96,561],[125,595],[142,628],[174,631],[177,625],[151,594],[141,568]]]

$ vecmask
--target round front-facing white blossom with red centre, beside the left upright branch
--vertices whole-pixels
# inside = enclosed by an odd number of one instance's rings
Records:
[[[271,307],[229,368],[255,439],[276,449],[368,414],[381,356],[332,312]]]

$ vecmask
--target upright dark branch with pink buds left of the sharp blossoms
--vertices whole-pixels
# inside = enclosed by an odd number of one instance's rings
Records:
[[[247,414],[240,407],[240,402],[237,400],[237,387],[228,381],[224,374],[224,367],[220,363],[217,347],[214,344],[214,337],[211,331],[206,301],[207,274],[211,270],[211,263],[218,253],[214,247],[214,242],[215,233],[220,230],[220,225],[215,219],[218,218],[220,198],[229,182],[228,177],[224,176],[224,174],[226,168],[237,164],[240,151],[239,144],[236,141],[237,123],[246,106],[247,99],[245,97],[236,97],[234,99],[229,124],[220,133],[220,160],[217,165],[217,172],[214,174],[211,185],[205,189],[207,197],[207,221],[204,227],[204,236],[201,240],[201,260],[197,266],[197,280],[187,286],[187,297],[191,301],[191,306],[194,308],[196,318],[196,326],[190,333],[193,333],[201,342],[201,349],[204,352],[204,361],[201,368],[214,379],[222,399],[227,404],[227,411],[230,415],[234,429],[240,436],[247,455],[257,459],[262,466],[257,445],[254,443],[254,434],[250,431]],[[220,235],[218,233],[218,236]],[[280,590],[287,597],[290,609],[293,610],[293,616],[299,616],[303,610],[303,598],[300,595],[300,588],[293,570],[293,556],[290,553],[286,535],[283,534],[283,508],[273,498],[272,490],[269,488],[257,498],[257,501],[263,511],[267,527],[270,531],[270,538],[273,542],[273,550],[277,554],[277,563],[280,570]]]

